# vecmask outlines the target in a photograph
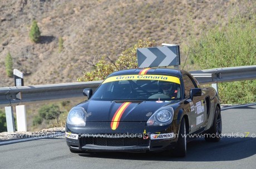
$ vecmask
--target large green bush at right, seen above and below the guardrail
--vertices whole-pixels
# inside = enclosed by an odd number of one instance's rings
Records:
[[[250,18],[250,19],[249,19]],[[199,69],[249,66],[256,64],[256,14],[250,17],[238,12],[228,24],[217,24],[202,36],[192,36],[185,47]],[[222,103],[256,102],[256,81],[219,84]]]

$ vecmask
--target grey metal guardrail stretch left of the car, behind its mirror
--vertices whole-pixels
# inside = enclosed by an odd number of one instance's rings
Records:
[[[102,81],[45,84],[36,86],[0,88],[0,106],[29,105],[50,101],[66,101],[72,98],[83,98],[83,89],[96,88]],[[21,100],[18,98],[21,94]]]

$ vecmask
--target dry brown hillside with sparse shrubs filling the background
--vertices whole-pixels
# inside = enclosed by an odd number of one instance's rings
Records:
[[[8,52],[13,68],[24,72],[26,86],[76,82],[86,71],[84,61],[96,53],[116,58],[120,44],[132,46],[147,38],[159,45],[183,44],[191,33],[200,34],[227,17],[230,8],[242,13],[255,10],[252,3],[254,0],[1,0],[0,87],[13,86],[4,66]],[[33,19],[41,31],[39,43],[29,39]],[[63,39],[61,52],[59,37]]]

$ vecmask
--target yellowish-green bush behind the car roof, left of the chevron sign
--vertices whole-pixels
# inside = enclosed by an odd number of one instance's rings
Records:
[[[133,47],[122,51],[121,56],[114,63],[109,63],[106,58],[102,57],[95,64],[92,71],[85,72],[82,77],[78,77],[77,81],[99,81],[105,79],[110,73],[122,69],[137,68],[137,48],[146,48],[155,46],[155,41],[139,40]]]

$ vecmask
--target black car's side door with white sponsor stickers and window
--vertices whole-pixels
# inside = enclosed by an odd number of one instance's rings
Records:
[[[185,87],[185,97],[190,104],[190,130],[191,133],[198,131],[201,127],[204,127],[206,121],[206,105],[205,98],[202,93],[201,96],[193,97],[190,99],[191,88],[199,88],[194,79],[189,74],[183,74],[183,82]]]

